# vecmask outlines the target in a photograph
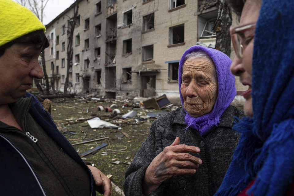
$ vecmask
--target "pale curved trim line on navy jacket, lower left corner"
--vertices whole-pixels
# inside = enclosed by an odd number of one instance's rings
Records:
[[[18,130],[18,129],[15,129]],[[21,155],[21,157],[23,158],[23,160],[25,161],[25,163],[28,165],[28,168],[32,171],[32,174],[34,175],[43,195],[47,196],[47,192],[46,190],[43,188],[43,184],[40,180],[40,177],[37,175],[35,168],[32,166],[32,164],[30,163],[30,161],[27,159],[27,157],[25,156],[25,154],[21,151],[21,149],[19,149],[8,137],[6,137],[5,135],[0,133],[0,137],[2,137],[3,139],[5,139],[16,151],[17,153],[19,153]]]

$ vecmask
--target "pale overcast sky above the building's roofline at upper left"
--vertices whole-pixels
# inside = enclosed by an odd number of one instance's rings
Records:
[[[47,25],[73,3],[74,0],[49,0],[44,10],[43,24]]]

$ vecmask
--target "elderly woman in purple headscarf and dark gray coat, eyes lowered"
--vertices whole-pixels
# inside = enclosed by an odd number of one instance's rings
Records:
[[[213,195],[229,166],[239,135],[230,105],[236,95],[230,58],[193,46],[179,62],[183,107],[156,119],[125,174],[124,192],[136,195]],[[190,153],[187,153],[190,152]]]

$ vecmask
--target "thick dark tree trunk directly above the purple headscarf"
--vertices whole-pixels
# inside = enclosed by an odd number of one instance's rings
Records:
[[[230,56],[231,36],[229,29],[232,25],[232,12],[225,0],[218,0],[218,14],[215,25],[217,27],[215,49]]]

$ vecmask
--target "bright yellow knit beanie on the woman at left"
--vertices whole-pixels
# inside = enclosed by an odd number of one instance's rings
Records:
[[[0,0],[0,46],[45,26],[28,8],[12,0]]]

